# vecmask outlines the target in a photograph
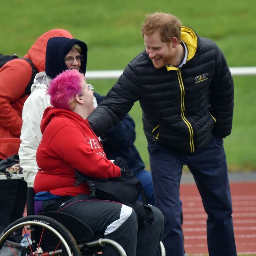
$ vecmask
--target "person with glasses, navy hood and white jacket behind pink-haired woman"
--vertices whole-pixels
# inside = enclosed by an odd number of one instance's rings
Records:
[[[22,113],[19,160],[28,187],[34,186],[34,178],[38,172],[36,152],[42,138],[41,119],[45,108],[51,106],[49,96],[45,95],[46,89],[52,79],[62,71],[75,68],[85,75],[86,66],[87,45],[83,41],[64,37],[49,39],[46,46],[45,72],[35,76],[31,94],[24,103]]]

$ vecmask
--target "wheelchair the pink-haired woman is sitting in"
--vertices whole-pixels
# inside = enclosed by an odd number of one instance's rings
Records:
[[[0,256],[5,256],[6,250],[8,256],[18,256],[12,237],[21,231],[28,242],[22,248],[21,256],[96,256],[101,254],[105,245],[113,246],[120,256],[126,256],[120,244],[98,237],[89,226],[72,215],[53,211],[34,215],[34,189],[31,187],[27,194],[27,216],[11,223],[0,234]],[[166,256],[162,242],[158,254]]]

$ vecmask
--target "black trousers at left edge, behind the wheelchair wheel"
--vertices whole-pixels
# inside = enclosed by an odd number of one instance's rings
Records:
[[[0,181],[0,233],[22,218],[26,206],[27,185],[22,180]]]

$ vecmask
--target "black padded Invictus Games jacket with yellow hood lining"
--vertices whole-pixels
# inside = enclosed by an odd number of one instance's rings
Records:
[[[147,140],[173,151],[194,153],[206,147],[213,134],[230,135],[233,79],[226,59],[213,41],[186,26],[181,31],[187,63],[156,69],[145,51],[136,56],[89,117],[98,136],[120,122],[137,100]]]

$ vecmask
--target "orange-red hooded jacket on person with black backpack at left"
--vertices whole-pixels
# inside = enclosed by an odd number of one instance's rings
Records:
[[[30,59],[38,72],[45,71],[45,51],[49,38],[73,38],[67,30],[53,29],[41,35],[24,58]],[[24,95],[32,75],[26,60],[15,59],[0,68],[0,139],[19,138],[22,109],[28,95]],[[1,143],[0,159],[18,154],[20,143]]]

